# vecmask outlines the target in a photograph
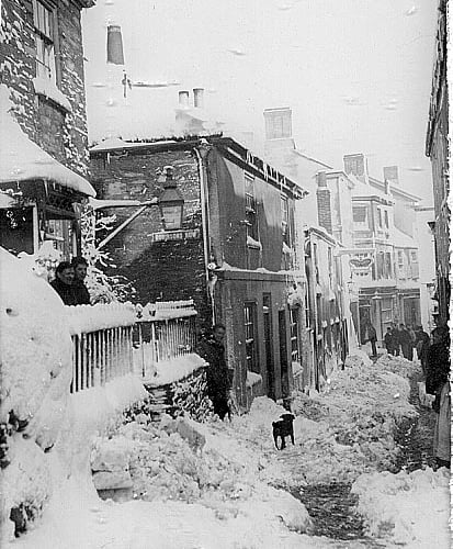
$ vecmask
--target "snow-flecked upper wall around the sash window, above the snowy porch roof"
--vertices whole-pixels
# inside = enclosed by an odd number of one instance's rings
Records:
[[[61,164],[88,172],[88,136],[83,82],[80,8],[60,0],[55,9],[57,87],[70,111],[35,93],[36,76],[33,3],[1,3],[0,72],[15,105],[14,116],[29,137]]]

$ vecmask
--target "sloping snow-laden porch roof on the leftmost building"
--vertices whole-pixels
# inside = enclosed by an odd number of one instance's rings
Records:
[[[7,86],[0,86],[0,184],[45,179],[81,194],[95,191],[83,177],[70,170],[33,143],[10,113],[13,108]]]

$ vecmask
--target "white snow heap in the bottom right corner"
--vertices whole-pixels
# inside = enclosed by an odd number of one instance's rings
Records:
[[[444,468],[363,474],[352,486],[371,536],[410,549],[450,547],[450,475]]]

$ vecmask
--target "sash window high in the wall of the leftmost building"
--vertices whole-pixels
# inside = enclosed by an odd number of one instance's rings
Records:
[[[56,83],[54,13],[39,0],[33,0],[33,23],[35,26],[36,77]]]

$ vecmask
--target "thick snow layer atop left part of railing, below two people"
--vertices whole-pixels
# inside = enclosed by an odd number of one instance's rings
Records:
[[[71,335],[87,334],[99,329],[132,326],[136,322],[132,303],[98,303],[66,309]]]

